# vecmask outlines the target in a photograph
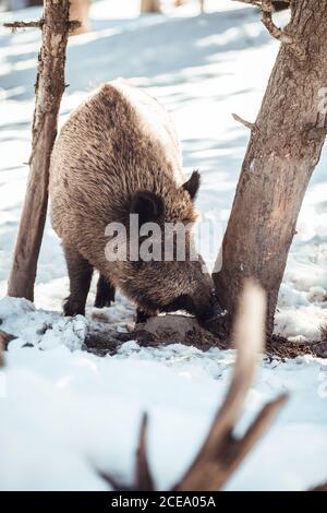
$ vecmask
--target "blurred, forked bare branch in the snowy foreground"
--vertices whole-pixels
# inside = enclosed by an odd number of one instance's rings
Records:
[[[268,403],[261,410],[242,438],[234,437],[245,396],[252,384],[257,355],[264,348],[266,299],[263,290],[247,282],[240,301],[234,324],[233,341],[237,361],[229,391],[217,411],[213,426],[197,456],[172,491],[214,491],[222,487],[240,465],[254,443],[268,428],[287,399],[286,395]],[[135,485],[131,490],[154,490],[146,453],[147,419],[143,418],[137,450]],[[107,482],[117,490],[126,489],[116,479],[101,473]]]

